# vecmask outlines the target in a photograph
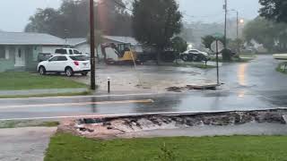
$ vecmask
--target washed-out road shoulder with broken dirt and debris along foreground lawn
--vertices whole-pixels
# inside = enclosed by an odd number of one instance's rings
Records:
[[[188,131],[195,127],[228,127],[248,123],[287,123],[287,110],[221,112],[210,114],[137,115],[107,118],[85,118],[61,123],[58,131],[72,132],[88,138],[113,139],[154,134],[155,131]],[[256,125],[257,126],[257,125]],[[284,131],[287,133],[287,131]],[[216,133],[214,133],[215,135]],[[236,133],[235,133],[236,134]],[[248,133],[247,133],[248,134]],[[262,133],[259,133],[262,134]],[[161,136],[168,136],[162,133]]]

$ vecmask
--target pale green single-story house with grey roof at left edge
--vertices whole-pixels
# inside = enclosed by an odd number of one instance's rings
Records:
[[[65,39],[44,33],[0,32],[0,72],[35,71],[39,53],[54,53]]]

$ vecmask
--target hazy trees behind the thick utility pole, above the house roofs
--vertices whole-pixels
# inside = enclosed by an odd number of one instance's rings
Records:
[[[125,5],[121,0],[118,3]],[[26,32],[43,32],[60,38],[87,37],[89,32],[89,1],[63,0],[61,7],[38,9],[30,17]],[[105,35],[132,36],[131,15],[114,0],[100,0],[94,6],[96,29]]]

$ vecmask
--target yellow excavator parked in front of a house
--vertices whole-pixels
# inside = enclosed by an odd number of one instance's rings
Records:
[[[106,64],[137,64],[139,62],[137,60],[137,55],[135,54],[135,51],[131,49],[131,44],[116,45],[114,43],[107,43],[101,44],[100,48]],[[117,60],[108,58],[106,51],[107,48],[112,48],[115,51],[118,57]]]

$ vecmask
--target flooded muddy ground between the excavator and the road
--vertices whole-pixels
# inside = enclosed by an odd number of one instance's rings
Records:
[[[187,90],[187,85],[214,82],[205,79],[202,72],[201,69],[173,66],[141,65],[136,70],[131,66],[102,66],[97,69],[96,80],[99,91],[107,91],[109,77],[112,92],[165,92],[169,87],[185,87],[184,90]],[[72,79],[90,83],[90,76],[75,76]]]

